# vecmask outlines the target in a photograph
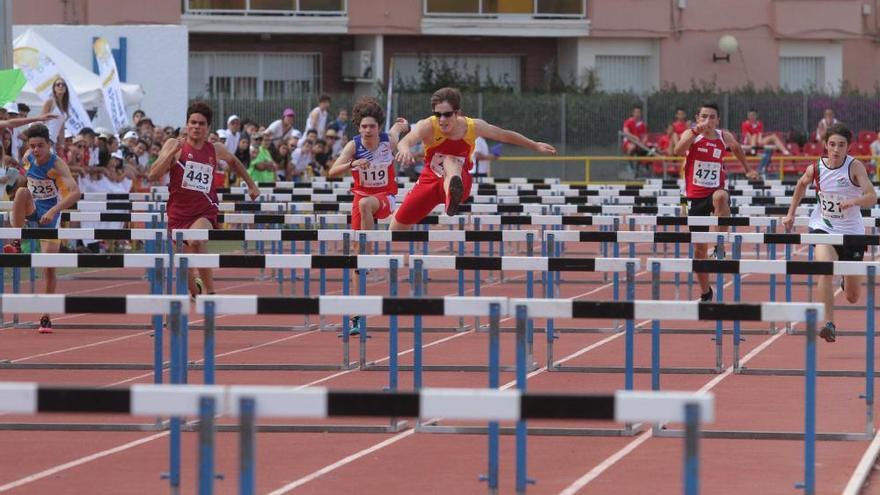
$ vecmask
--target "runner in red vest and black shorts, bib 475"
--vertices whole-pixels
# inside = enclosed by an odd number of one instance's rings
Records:
[[[675,144],[676,155],[685,154],[684,181],[685,194],[688,198],[688,215],[717,217],[730,216],[730,195],[724,190],[727,176],[724,170],[725,150],[730,148],[734,156],[746,171],[746,177],[755,180],[758,172],[746,161],[736,138],[728,131],[717,129],[718,105],[703,103],[696,115],[697,124],[684,131],[681,139]],[[708,227],[691,227],[692,232],[707,232]],[[727,226],[719,226],[719,232],[727,232]],[[709,246],[694,245],[694,258],[706,259]],[[700,282],[700,300],[711,301],[714,292],[709,285],[709,274],[698,273]]]

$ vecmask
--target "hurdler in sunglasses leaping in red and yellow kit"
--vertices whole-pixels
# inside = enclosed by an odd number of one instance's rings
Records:
[[[477,136],[515,144],[543,154],[556,148],[538,143],[514,131],[461,114],[461,93],[455,88],[438,89],[431,95],[433,115],[422,119],[397,145],[397,159],[403,165],[415,161],[410,148],[418,140],[425,145],[425,168],[418,183],[394,214],[391,230],[408,230],[424,219],[435,206],[446,204],[446,214],[458,213],[458,206],[471,194],[471,155]]]

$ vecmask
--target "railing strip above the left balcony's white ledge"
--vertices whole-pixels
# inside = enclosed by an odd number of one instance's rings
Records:
[[[184,0],[183,13],[342,17],[348,14],[348,0]]]

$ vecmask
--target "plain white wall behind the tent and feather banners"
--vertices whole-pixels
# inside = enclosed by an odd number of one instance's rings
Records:
[[[141,108],[156,125],[183,125],[189,78],[189,35],[186,27],[173,25],[63,26],[16,25],[13,37],[33,28],[70,58],[92,71],[92,39],[104,37],[113,49],[127,38],[126,80],[144,88]],[[129,117],[134,108],[128,109]],[[97,126],[108,127],[109,118],[100,108]]]

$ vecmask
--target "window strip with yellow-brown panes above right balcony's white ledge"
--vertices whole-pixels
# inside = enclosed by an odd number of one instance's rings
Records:
[[[424,0],[427,16],[528,15],[584,18],[586,0]]]

